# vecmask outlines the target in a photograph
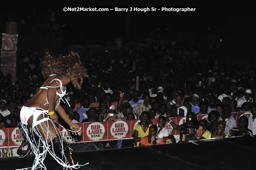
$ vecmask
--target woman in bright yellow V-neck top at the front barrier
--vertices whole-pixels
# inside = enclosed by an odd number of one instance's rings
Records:
[[[141,113],[139,117],[140,123],[135,125],[134,128],[134,134],[133,138],[134,141],[137,142],[137,146],[139,146],[139,141],[148,135],[149,133],[149,127],[152,125],[150,121],[150,115],[147,111],[144,111]],[[157,127],[156,127],[156,132],[157,132]]]

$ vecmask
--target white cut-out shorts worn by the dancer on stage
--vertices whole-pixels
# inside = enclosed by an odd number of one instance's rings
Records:
[[[37,118],[43,114],[44,118],[37,121]],[[20,110],[20,120],[23,124],[28,125],[27,121],[29,117],[33,115],[33,124],[32,127],[36,126],[37,124],[40,124],[41,122],[44,122],[46,120],[50,120],[48,116],[48,110],[43,110],[41,108],[35,108],[35,107],[27,107],[23,106]]]

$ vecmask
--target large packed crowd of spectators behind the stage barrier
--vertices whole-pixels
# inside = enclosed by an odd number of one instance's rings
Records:
[[[222,51],[219,44],[182,46],[148,36],[126,44],[120,56],[81,56],[87,69],[82,89],[77,91],[69,84],[70,107],[61,105],[74,123],[139,119],[134,140],[130,140],[137,146],[175,143],[165,124],[181,130],[179,142],[255,135],[254,68],[226,63]],[[17,68],[15,82],[11,74],[0,72],[0,128],[20,125],[21,107],[44,81],[42,57],[43,53],[27,55]],[[252,112],[252,116],[241,117],[236,127],[231,113],[238,111]],[[209,114],[208,122],[198,123],[197,114]],[[177,116],[186,116],[186,123],[176,125],[168,119]],[[158,127],[152,125],[152,118],[159,118]],[[105,143],[104,147],[119,144]]]

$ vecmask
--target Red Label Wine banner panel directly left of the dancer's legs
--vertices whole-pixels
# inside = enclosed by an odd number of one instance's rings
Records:
[[[8,139],[9,146],[19,147],[24,140],[22,128],[8,128]]]

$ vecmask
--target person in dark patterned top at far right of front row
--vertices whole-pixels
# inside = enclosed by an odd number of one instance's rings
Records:
[[[252,136],[252,131],[248,129],[249,121],[248,117],[241,116],[238,120],[238,127],[234,127],[229,132],[229,137],[233,136]]]

